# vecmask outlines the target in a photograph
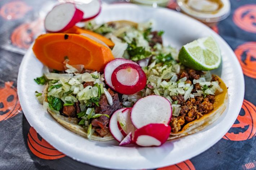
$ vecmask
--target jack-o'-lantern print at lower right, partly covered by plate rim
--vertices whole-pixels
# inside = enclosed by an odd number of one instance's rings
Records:
[[[237,120],[223,138],[231,141],[245,141],[254,137],[255,134],[256,107],[247,100],[244,100]]]

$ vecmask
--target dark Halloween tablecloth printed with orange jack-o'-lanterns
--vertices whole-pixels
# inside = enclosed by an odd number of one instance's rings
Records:
[[[64,1],[64,0],[59,0]],[[91,169],[45,141],[23,115],[17,96],[19,65],[43,30],[56,0],[0,1],[0,169]],[[168,8],[175,9],[174,0]],[[229,43],[245,79],[242,109],[228,133],[200,155],[159,170],[256,169],[256,0],[231,0],[230,16],[212,29]]]

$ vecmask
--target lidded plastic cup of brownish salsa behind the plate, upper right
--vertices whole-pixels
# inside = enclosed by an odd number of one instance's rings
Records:
[[[229,0],[177,0],[178,9],[209,27],[226,19],[230,14]]]

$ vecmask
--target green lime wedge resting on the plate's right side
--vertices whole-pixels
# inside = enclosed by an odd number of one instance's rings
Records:
[[[220,49],[212,37],[199,38],[184,45],[178,55],[180,62],[195,70],[212,70],[220,66]]]

